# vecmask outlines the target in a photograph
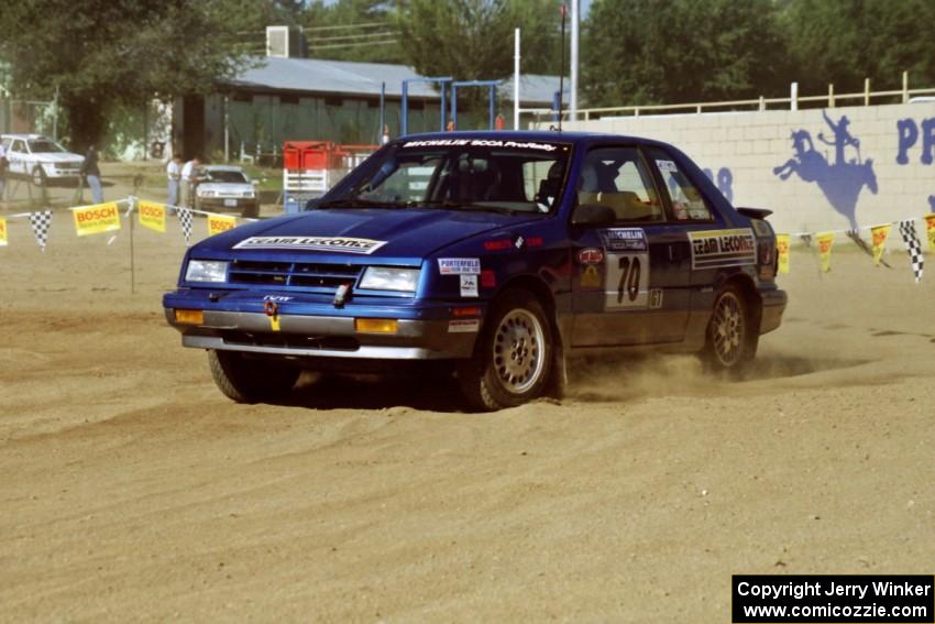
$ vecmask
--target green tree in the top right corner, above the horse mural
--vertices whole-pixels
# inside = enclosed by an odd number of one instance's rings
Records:
[[[789,77],[805,92],[895,89],[909,70],[916,86],[935,85],[932,0],[791,0],[782,26],[794,61]]]

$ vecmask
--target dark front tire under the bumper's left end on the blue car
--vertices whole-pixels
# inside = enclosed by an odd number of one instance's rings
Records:
[[[299,376],[295,366],[252,360],[233,351],[208,351],[208,365],[215,384],[238,403],[262,403],[286,396]]]

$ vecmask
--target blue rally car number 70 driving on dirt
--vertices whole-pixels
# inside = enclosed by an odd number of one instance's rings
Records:
[[[656,141],[410,135],[305,212],[193,247],[164,306],[238,402],[428,361],[498,409],[561,393],[572,355],[646,347],[739,373],[787,304],[768,215]]]

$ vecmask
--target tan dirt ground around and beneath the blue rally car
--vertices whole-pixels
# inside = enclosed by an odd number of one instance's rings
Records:
[[[175,226],[136,232],[135,295],[127,233],[0,248],[0,620],[728,622],[732,573],[932,573],[932,256],[793,255],[751,381],[588,362],[475,415],[230,403],[162,318]]]

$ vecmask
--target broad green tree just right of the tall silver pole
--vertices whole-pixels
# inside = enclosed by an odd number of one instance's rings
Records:
[[[754,98],[785,74],[771,0],[595,0],[582,58],[587,106]]]

